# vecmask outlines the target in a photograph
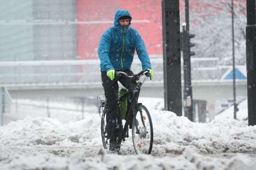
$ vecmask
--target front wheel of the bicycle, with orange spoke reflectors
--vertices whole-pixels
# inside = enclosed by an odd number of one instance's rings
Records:
[[[150,154],[152,151],[153,125],[149,110],[143,105],[138,106],[132,119],[132,143],[137,154]]]

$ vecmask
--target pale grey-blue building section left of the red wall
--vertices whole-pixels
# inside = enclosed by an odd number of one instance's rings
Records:
[[[0,60],[76,57],[76,2],[1,0]]]

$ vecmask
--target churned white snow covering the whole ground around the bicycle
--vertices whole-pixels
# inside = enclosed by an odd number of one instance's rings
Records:
[[[96,109],[83,120],[58,111],[58,120],[26,108],[29,118],[0,127],[0,169],[256,169],[256,126],[231,118],[194,123],[159,110],[162,99],[142,101],[153,121],[151,155],[136,155],[131,138],[122,155],[105,151]]]

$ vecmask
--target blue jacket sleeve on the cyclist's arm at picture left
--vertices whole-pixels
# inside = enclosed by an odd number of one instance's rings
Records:
[[[106,71],[114,69],[109,59],[110,45],[112,43],[111,29],[107,29],[101,36],[100,44],[98,46],[98,55],[100,57],[101,65]]]

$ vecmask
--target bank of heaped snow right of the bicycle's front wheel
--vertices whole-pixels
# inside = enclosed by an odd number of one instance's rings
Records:
[[[233,119],[193,123],[171,112],[153,112],[153,154],[182,153],[187,147],[200,153],[256,152],[256,126]]]

